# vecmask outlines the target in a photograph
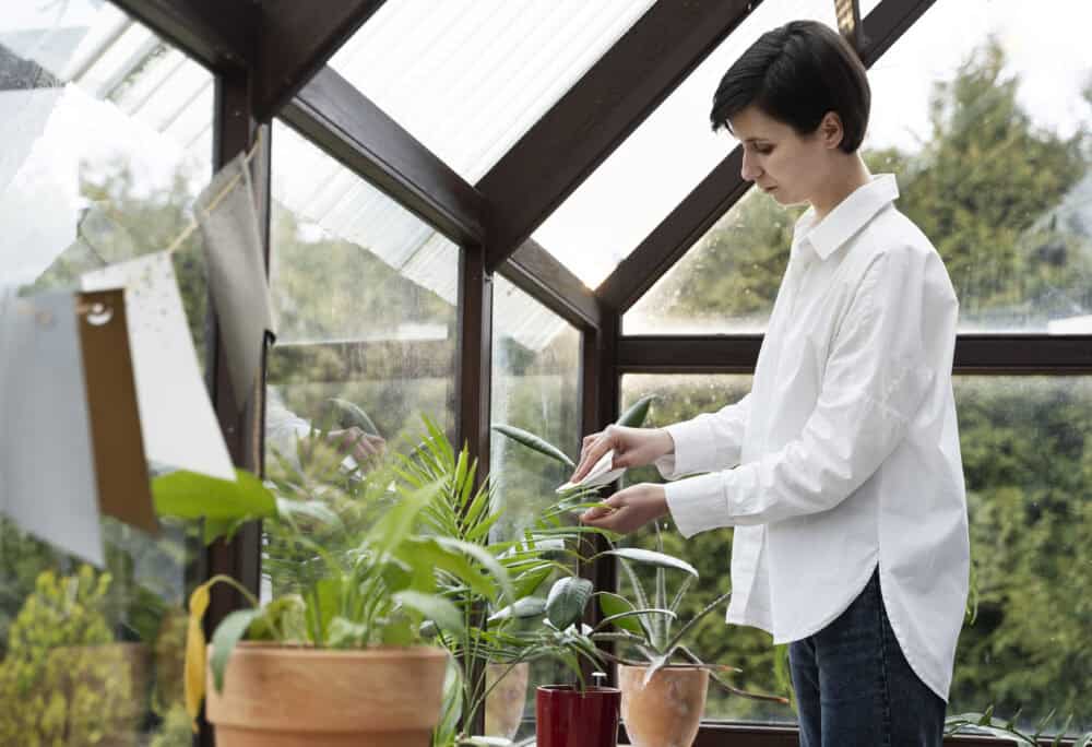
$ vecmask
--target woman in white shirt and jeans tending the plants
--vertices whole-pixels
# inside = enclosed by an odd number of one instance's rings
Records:
[[[805,747],[940,745],[968,592],[951,367],[958,304],[940,257],[857,153],[864,67],[833,31],[793,22],[724,75],[714,129],[743,177],[796,224],[751,392],[663,429],[584,439],[579,481],[655,463],[582,520],[684,536],[735,526],[728,622],[790,642]],[[735,467],[735,469],[732,469]]]

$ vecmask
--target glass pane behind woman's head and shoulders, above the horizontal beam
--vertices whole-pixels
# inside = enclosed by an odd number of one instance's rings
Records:
[[[945,258],[961,331],[1087,333],[1092,64],[1079,20],[1092,9],[1026,11],[1018,0],[929,9],[869,73],[864,153],[874,173],[899,175],[900,210]],[[764,328],[795,215],[765,195],[733,208],[625,316],[625,332]]]

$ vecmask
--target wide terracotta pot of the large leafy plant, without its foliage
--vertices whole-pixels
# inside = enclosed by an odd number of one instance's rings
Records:
[[[211,650],[210,650],[211,651]],[[448,656],[431,647],[356,651],[241,643],[224,690],[209,669],[218,747],[428,747]]]

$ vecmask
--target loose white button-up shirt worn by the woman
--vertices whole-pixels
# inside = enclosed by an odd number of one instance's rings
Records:
[[[970,544],[943,263],[874,178],[797,222],[750,393],[668,426],[685,536],[735,526],[727,620],[806,638],[879,566],[907,662],[948,699]],[[737,466],[738,465],[738,466]],[[735,469],[732,469],[735,467]]]

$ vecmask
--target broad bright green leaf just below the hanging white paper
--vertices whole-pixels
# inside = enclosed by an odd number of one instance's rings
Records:
[[[161,475],[152,481],[156,513],[226,521],[275,517],[276,500],[262,482],[246,470],[236,470],[235,474],[235,482],[186,470]]]

